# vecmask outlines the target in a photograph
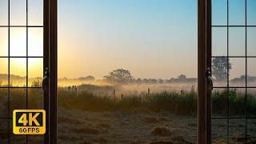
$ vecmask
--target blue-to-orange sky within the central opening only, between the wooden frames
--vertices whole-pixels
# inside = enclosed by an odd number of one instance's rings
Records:
[[[59,0],[59,77],[197,76],[196,0]]]

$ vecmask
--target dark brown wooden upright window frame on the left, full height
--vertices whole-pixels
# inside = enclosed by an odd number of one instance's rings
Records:
[[[44,143],[58,142],[57,90],[58,90],[58,14],[57,0],[44,0],[44,70],[49,69],[49,78],[44,87],[46,110],[46,134]],[[45,75],[44,75],[45,76]]]

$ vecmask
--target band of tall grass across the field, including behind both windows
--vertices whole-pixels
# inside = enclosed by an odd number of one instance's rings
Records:
[[[112,87],[106,87],[110,90]],[[122,97],[94,93],[99,86],[89,86],[86,90],[58,90],[58,108],[69,110],[130,111],[137,108],[155,112],[168,111],[171,114],[197,114],[198,95],[194,90],[178,92],[162,91],[145,95],[124,94]],[[7,89],[0,90],[0,114],[7,113]],[[42,108],[42,90],[28,91],[28,107]],[[26,108],[26,89],[10,90],[11,109]],[[238,90],[214,91],[212,94],[212,113],[218,116],[239,115],[256,116],[256,95],[245,95]]]

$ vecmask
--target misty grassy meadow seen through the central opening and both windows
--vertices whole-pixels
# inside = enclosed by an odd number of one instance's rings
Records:
[[[38,83],[35,82],[34,85]],[[213,116],[256,116],[256,92],[214,90]],[[7,89],[0,89],[0,116],[8,116]],[[197,88],[194,84],[130,84],[59,86],[58,141],[60,143],[195,143]],[[28,108],[42,108],[42,90],[28,90]],[[10,110],[26,108],[26,89],[10,90]],[[229,107],[228,107],[229,106]],[[1,129],[2,126],[2,129]],[[8,131],[0,126],[4,142]],[[226,119],[213,120],[215,143],[226,142]],[[247,122],[255,142],[256,121]],[[230,119],[232,143],[243,143],[243,119]],[[14,140],[22,137],[14,137]],[[38,142],[41,137],[31,137]],[[2,142],[0,142],[2,143]]]

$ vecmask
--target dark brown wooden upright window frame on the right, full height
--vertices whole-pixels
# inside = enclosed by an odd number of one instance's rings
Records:
[[[198,144],[211,143],[211,0],[198,0]]]

